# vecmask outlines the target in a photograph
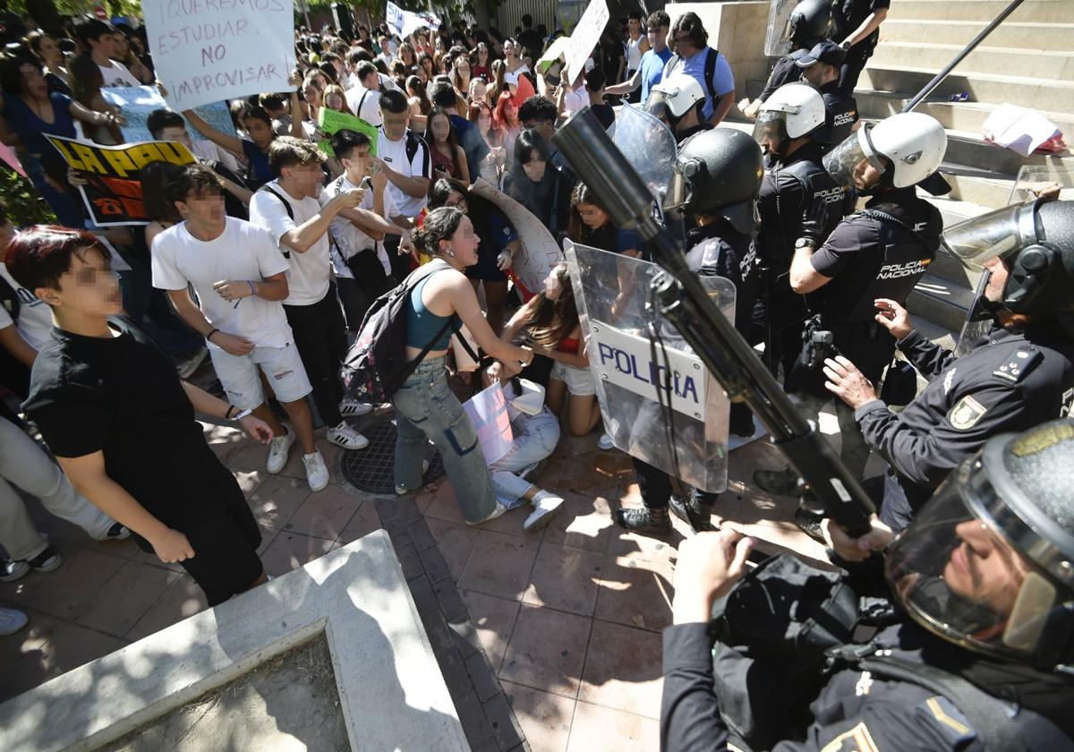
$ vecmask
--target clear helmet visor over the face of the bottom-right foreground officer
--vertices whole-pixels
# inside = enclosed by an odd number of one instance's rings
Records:
[[[964,462],[888,547],[887,578],[895,597],[930,632],[1034,663],[1049,617],[1074,594],[997,532],[987,511],[997,504],[1003,502],[981,463]]]

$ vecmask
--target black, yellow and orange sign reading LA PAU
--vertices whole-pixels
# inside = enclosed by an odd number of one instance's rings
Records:
[[[150,141],[124,146],[101,146],[45,134],[68,167],[87,180],[78,186],[90,218],[100,227],[146,225],[149,218],[142,205],[140,172],[149,162],[192,164],[193,156],[183,144]]]

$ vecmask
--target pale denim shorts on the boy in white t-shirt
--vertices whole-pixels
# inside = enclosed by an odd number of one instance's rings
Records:
[[[251,410],[265,401],[258,366],[280,402],[295,402],[314,390],[294,343],[255,347],[245,356],[233,356],[217,347],[211,347],[208,353],[228,401],[241,410]]]

